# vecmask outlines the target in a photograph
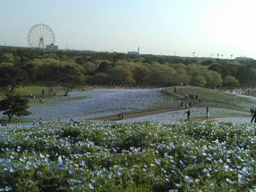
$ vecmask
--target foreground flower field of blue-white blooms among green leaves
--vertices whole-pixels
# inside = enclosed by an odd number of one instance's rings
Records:
[[[0,191],[249,191],[256,126],[74,121],[0,128]]]

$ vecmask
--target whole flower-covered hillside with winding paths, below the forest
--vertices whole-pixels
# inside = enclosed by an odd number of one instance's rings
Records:
[[[38,87],[41,88],[41,87]],[[181,101],[187,93],[200,96],[192,104],[193,119],[205,118],[206,106],[211,109],[211,118],[230,116],[249,116],[249,108],[255,107],[255,97],[236,96],[231,93],[224,93],[218,90],[193,86],[178,86],[178,93],[174,93],[175,87],[140,89],[140,88],[91,88],[86,91],[73,91],[65,97],[57,93],[56,96],[48,96],[47,100],[39,103],[38,99],[30,99],[36,104],[29,108],[31,115],[19,118],[24,122],[31,122],[33,119],[42,118],[44,121],[70,120],[72,119],[104,119],[118,120],[118,113],[124,112],[124,119],[138,118],[150,119],[150,115],[157,115],[160,118],[152,117],[152,120],[164,120],[167,122],[181,121],[186,118],[185,106],[180,107]],[[26,88],[25,88],[26,89]],[[31,90],[31,87],[29,87]],[[58,91],[58,88],[53,88]],[[21,90],[18,89],[20,93]],[[32,92],[33,93],[33,92]],[[29,98],[29,92],[22,95]],[[2,115],[0,115],[3,118]],[[172,117],[172,118],[170,118]],[[169,119],[169,121],[168,121]],[[17,118],[15,119],[17,120]],[[134,121],[134,120],[132,120]]]

